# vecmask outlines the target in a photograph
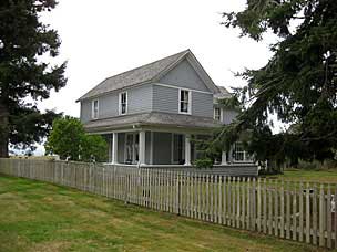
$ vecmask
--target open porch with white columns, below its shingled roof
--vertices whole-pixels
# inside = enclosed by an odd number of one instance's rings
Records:
[[[191,130],[127,129],[103,134],[109,143],[108,164],[141,167],[182,168],[192,166],[200,158],[194,139],[205,139],[205,133]],[[252,164],[252,158],[239,143],[224,151],[216,166]]]

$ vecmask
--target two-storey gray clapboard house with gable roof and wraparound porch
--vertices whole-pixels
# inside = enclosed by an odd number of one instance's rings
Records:
[[[229,96],[186,50],[108,77],[78,102],[85,130],[108,139],[110,164],[191,166],[198,155],[191,136],[205,137],[236,116],[217,105]],[[247,162],[236,144],[217,165]]]

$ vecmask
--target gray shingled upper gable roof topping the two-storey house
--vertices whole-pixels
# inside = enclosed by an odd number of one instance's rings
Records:
[[[213,93],[217,93],[218,87],[213,83],[208,74],[198,63],[191,50],[185,50],[162,60],[142,65],[140,67],[126,71],[124,73],[105,78],[99,85],[90,90],[86,94],[81,96],[76,102],[95,97],[101,94],[110,93],[116,90],[131,87],[134,85],[146,84],[159,81],[162,76],[174,69],[182,60],[187,57],[188,62],[195,67],[196,72],[201,75],[206,86]]]

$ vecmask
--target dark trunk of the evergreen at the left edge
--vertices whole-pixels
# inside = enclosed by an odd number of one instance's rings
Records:
[[[9,111],[8,107],[0,102],[0,158],[8,157],[9,144]]]

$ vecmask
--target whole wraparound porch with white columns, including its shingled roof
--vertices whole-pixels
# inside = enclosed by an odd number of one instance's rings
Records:
[[[201,155],[191,139],[205,138],[221,126],[212,117],[152,112],[92,120],[85,130],[105,137],[110,165],[182,170],[192,168]],[[241,144],[219,154],[214,165],[228,169],[252,166],[256,174],[257,166]]]

